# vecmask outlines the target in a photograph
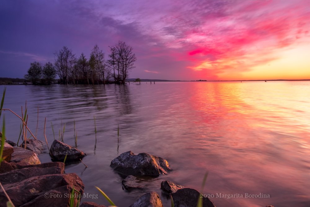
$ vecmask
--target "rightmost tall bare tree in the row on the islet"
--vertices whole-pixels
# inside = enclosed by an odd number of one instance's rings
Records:
[[[108,64],[113,69],[114,80],[119,84],[125,84],[129,72],[135,68],[134,62],[137,58],[132,50],[133,48],[123,41],[118,41],[117,44],[110,47]]]

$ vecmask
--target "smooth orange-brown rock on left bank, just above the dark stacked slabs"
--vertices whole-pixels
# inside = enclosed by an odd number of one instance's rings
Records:
[[[27,150],[21,147],[14,147],[12,153],[11,162],[15,162],[21,165],[40,164],[40,160],[36,153],[31,150]]]

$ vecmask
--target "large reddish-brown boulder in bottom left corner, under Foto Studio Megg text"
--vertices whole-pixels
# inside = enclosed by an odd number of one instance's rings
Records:
[[[21,182],[3,185],[3,188],[16,207],[68,207],[70,205],[68,195],[71,195],[73,186],[83,195],[84,184],[75,173],[31,177]],[[2,189],[0,200],[0,207],[6,207],[7,197]],[[77,199],[74,199],[73,206],[76,205]]]

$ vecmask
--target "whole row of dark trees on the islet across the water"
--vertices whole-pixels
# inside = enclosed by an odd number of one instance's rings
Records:
[[[118,41],[109,46],[108,60],[98,45],[91,50],[89,59],[84,53],[79,57],[68,47],[54,53],[55,62],[44,66],[40,62],[30,64],[26,80],[33,84],[51,84],[58,76],[58,83],[68,84],[125,84],[129,72],[135,68],[137,60],[133,48]]]

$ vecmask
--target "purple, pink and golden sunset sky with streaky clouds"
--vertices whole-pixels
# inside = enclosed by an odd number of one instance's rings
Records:
[[[309,20],[309,0],[1,0],[0,77],[122,40],[129,78],[310,79]]]

